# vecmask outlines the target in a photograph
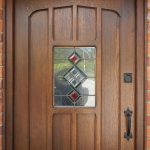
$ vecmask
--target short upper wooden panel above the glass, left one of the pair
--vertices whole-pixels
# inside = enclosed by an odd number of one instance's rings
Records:
[[[56,41],[70,41],[73,39],[72,7],[53,9],[53,39]]]

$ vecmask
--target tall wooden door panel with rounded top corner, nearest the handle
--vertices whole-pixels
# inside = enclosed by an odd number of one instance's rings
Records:
[[[102,10],[102,149],[119,149],[119,16]]]

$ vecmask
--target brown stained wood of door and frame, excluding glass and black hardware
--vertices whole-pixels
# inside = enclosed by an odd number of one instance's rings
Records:
[[[144,150],[144,0],[8,0],[6,8],[6,150]],[[54,46],[96,47],[95,108],[53,107]]]

